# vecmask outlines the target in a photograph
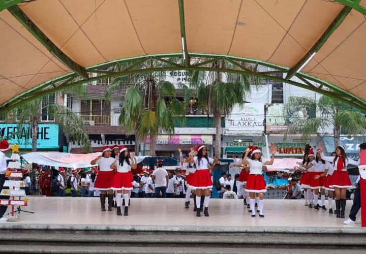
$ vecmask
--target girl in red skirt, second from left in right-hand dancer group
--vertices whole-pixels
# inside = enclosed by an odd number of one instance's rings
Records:
[[[321,158],[320,150],[317,150],[317,154],[315,156],[315,160],[311,162],[314,165],[314,172],[310,178],[310,188],[313,189],[314,192],[314,209],[319,210],[319,188],[320,188],[320,195],[321,195],[321,208],[326,211],[325,207],[325,189],[322,188],[325,185],[325,166],[326,163]]]

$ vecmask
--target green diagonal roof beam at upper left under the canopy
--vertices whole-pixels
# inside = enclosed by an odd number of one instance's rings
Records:
[[[62,52],[18,6],[9,7],[8,10],[54,57],[76,74],[84,79],[89,79],[86,69]]]

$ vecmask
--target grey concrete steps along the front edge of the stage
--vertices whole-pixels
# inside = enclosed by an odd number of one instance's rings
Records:
[[[366,232],[2,229],[2,253],[365,253]],[[285,251],[284,251],[285,250]]]

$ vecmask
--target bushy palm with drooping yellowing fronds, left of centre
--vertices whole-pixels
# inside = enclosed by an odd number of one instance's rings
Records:
[[[157,60],[154,66],[163,65]],[[131,66],[116,65],[110,69],[119,69]],[[134,66],[139,69],[150,67],[150,63],[139,63]],[[112,84],[107,88],[104,99],[110,100],[113,91],[124,90],[124,106],[118,118],[118,124],[125,127],[126,134],[135,133],[135,152],[138,142],[150,136],[150,155],[155,155],[155,142],[160,133],[174,134],[174,118],[184,119],[186,102],[190,98],[190,90],[187,86],[180,84],[178,88],[184,91],[184,100],[180,102],[176,98],[176,89],[168,81],[164,81],[165,72],[138,73],[124,75],[114,78]]]

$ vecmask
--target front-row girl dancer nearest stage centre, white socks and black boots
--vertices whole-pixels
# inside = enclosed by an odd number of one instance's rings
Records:
[[[193,155],[195,155],[193,157]],[[207,217],[208,214],[208,204],[210,193],[209,189],[212,188],[211,175],[208,169],[208,164],[213,163],[214,159],[207,156],[207,149],[204,145],[196,146],[196,151],[191,152],[188,160],[189,163],[196,165],[196,171],[191,178],[190,185],[192,189],[195,189],[196,194],[196,205],[197,205],[197,217],[201,216],[201,196],[204,195],[204,215]]]

